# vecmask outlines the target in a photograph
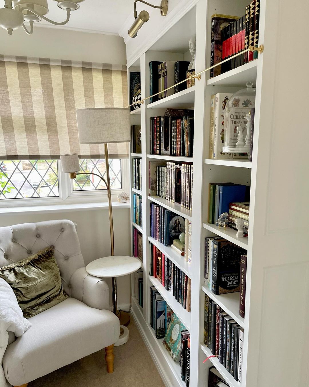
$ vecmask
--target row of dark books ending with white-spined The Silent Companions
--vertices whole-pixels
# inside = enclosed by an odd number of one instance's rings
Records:
[[[205,295],[204,344],[235,380],[241,382],[244,329]]]

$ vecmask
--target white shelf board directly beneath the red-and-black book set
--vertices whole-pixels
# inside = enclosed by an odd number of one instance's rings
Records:
[[[217,75],[214,78],[206,81],[207,86],[234,86],[246,87],[246,83],[251,81],[253,85],[256,84],[256,69],[258,67],[259,59],[246,63],[243,66],[234,68],[224,74]]]

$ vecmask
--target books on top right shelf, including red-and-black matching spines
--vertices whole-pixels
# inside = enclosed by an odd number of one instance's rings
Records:
[[[246,6],[242,17],[212,15],[211,21],[211,66],[244,51],[249,46],[258,47],[260,22],[260,0]],[[211,69],[211,77],[223,74],[258,57],[257,51],[247,51],[222,65]]]

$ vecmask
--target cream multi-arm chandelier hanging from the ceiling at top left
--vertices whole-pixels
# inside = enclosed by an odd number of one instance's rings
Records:
[[[33,33],[33,23],[42,19],[55,26],[63,26],[70,20],[71,11],[75,11],[84,0],[71,0],[57,2],[59,8],[66,10],[66,20],[64,22],[54,22],[44,15],[48,13],[47,0],[4,0],[4,8],[0,9],[0,27],[6,29],[9,35],[20,26],[23,27],[28,35]],[[13,9],[14,7],[14,9]],[[27,29],[24,22],[29,22],[30,30]]]

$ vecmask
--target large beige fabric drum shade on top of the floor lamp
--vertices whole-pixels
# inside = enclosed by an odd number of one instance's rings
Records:
[[[130,111],[126,108],[76,110],[80,144],[130,142]]]

